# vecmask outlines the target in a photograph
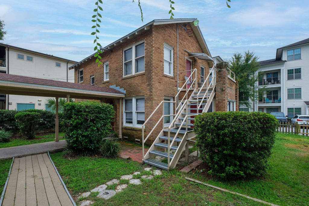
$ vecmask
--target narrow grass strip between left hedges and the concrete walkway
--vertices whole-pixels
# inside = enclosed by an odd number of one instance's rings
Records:
[[[64,135],[65,134],[63,132],[59,132],[59,140],[64,140]],[[0,142],[0,148],[15,147],[20,145],[31,145],[51,141],[55,141],[55,133],[46,135],[36,135],[34,139],[27,139],[26,137],[11,138],[11,141],[9,142],[4,143]]]

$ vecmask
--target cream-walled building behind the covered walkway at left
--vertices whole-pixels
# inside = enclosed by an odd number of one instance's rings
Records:
[[[0,43],[0,72],[74,82],[76,61]],[[0,94],[0,109],[45,109],[46,97]]]

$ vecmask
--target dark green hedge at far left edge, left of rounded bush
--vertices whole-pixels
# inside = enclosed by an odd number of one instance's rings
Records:
[[[17,110],[0,109],[0,129],[10,132],[18,132],[15,115],[20,112]]]

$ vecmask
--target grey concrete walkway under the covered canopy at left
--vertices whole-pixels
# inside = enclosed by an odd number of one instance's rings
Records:
[[[22,145],[16,147],[7,147],[0,149],[0,160],[9,159],[13,157],[23,157],[31,154],[40,154],[44,152],[61,151],[66,146],[66,141],[61,140],[58,142],[44,142],[32,145]]]

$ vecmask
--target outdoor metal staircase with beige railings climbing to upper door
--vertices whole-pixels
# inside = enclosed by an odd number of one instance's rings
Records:
[[[194,118],[196,115],[208,111],[215,95],[215,76],[210,77],[210,74],[212,74],[213,71],[215,71],[215,65],[210,70],[207,78],[204,79],[203,85],[198,88],[197,69],[192,69],[191,75],[188,79],[185,81],[180,81],[184,82],[184,84],[175,96],[175,101],[162,101],[148,117],[142,125],[143,163],[147,163],[164,170],[170,170],[175,168],[180,155],[184,150],[186,160],[188,160],[188,142],[195,138],[195,134],[193,132]],[[215,72],[213,72],[213,74],[215,74]],[[180,95],[183,95],[183,98],[176,102],[177,99],[180,99]],[[164,115],[164,103],[177,103],[177,105],[175,105],[175,113],[173,115]],[[155,113],[157,113],[160,107],[163,109],[163,115],[145,138],[145,125],[147,125],[148,121]],[[164,117],[166,116],[174,117],[168,127],[164,126]],[[163,128],[145,154],[144,144],[159,124],[163,125]],[[162,143],[162,141],[164,141],[164,143]],[[164,152],[162,151],[163,149],[159,148],[163,148]],[[154,156],[167,158],[167,163],[152,159]]]

